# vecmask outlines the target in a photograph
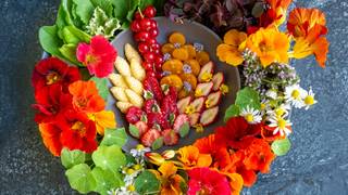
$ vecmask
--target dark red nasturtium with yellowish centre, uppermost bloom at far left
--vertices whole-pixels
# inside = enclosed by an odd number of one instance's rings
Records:
[[[35,91],[59,83],[66,91],[67,86],[80,79],[78,68],[69,66],[57,57],[48,57],[36,64],[32,83]]]

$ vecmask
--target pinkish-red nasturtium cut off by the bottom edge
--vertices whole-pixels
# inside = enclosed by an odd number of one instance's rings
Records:
[[[188,195],[231,195],[229,182],[225,176],[208,167],[188,171]]]

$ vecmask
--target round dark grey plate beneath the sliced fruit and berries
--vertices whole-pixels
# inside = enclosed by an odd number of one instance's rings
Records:
[[[214,123],[204,128],[203,133],[197,133],[194,129],[190,130],[188,136],[182,138],[179,143],[171,148],[178,148],[183,145],[192,144],[197,139],[209,135],[213,133],[214,129],[224,122],[224,113],[226,108],[234,103],[236,99],[236,93],[239,90],[239,73],[238,69],[234,66],[229,66],[225,63],[222,63],[216,57],[216,47],[222,42],[220,37],[214,34],[209,28],[198,24],[196,22],[184,22],[184,24],[175,24],[166,17],[156,17],[158,23],[160,35],[157,40],[162,44],[166,42],[167,36],[173,31],[179,31],[185,35],[187,42],[194,43],[199,42],[204,46],[204,50],[209,53],[211,61],[214,62],[215,68],[214,73],[222,72],[225,76],[225,83],[229,87],[229,93],[222,98],[222,102],[219,107],[219,116]],[[112,41],[112,44],[117,50],[119,55],[125,57],[124,46],[130,43],[136,48],[136,43],[133,40],[133,32],[130,30],[124,30],[116,36]],[[115,106],[115,100],[112,95],[109,96],[107,109],[111,109],[115,113],[117,127],[125,127],[127,129],[128,122],[125,120],[125,117]],[[138,144],[138,140],[129,135],[127,143],[124,148],[128,152],[130,148],[134,148]],[[170,147],[163,146],[160,151],[167,150]]]

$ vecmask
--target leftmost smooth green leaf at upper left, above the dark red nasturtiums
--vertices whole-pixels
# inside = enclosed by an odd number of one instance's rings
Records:
[[[48,53],[61,56],[59,48],[63,44],[63,41],[58,37],[57,26],[42,26],[39,29],[40,44]]]

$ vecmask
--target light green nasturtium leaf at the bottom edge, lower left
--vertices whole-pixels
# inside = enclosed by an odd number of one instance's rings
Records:
[[[91,174],[97,183],[95,192],[98,192],[102,195],[108,194],[108,191],[111,188],[120,187],[122,184],[122,178],[120,174],[116,174],[110,170],[104,170],[100,167],[95,167],[94,170],[91,170]]]

